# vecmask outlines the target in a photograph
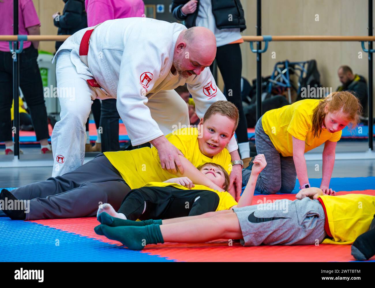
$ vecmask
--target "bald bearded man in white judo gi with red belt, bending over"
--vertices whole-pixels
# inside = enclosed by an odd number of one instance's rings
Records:
[[[109,20],[73,34],[54,57],[61,120],[52,132],[52,176],[83,164],[85,124],[95,98],[116,98],[132,145],[150,142],[163,169],[182,173],[181,152],[164,136],[173,125],[189,124],[187,105],[173,89],[187,83],[199,118],[213,102],[226,100],[208,68],[215,55],[216,39],[207,28],[187,30],[150,18]],[[239,196],[237,148],[233,137],[228,144],[236,160],[231,183],[235,181]]]

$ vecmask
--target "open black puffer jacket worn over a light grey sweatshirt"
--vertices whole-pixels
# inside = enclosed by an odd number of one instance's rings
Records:
[[[195,20],[199,10],[199,0],[194,13],[183,16],[181,8],[189,0],[173,0],[172,15],[180,21],[185,21],[187,28],[195,26]],[[215,17],[216,27],[218,29],[240,28],[240,31],[246,29],[244,12],[240,0],[211,0],[212,13]],[[228,15],[232,14],[233,19],[229,21]]]

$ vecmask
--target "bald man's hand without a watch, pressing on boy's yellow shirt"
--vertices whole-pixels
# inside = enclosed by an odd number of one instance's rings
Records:
[[[159,153],[160,165],[163,169],[168,170],[169,173],[176,174],[177,169],[181,174],[184,173],[181,161],[178,155],[184,156],[165,136],[157,137],[150,141],[155,146]]]

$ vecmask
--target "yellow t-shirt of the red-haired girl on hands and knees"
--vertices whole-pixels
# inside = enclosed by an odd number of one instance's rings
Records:
[[[282,156],[293,156],[292,136],[305,141],[305,152],[320,146],[327,140],[332,142],[340,140],[342,131],[330,133],[326,128],[322,128],[320,136],[314,138],[312,115],[319,101],[321,100],[304,99],[264,113],[262,117],[264,132]]]

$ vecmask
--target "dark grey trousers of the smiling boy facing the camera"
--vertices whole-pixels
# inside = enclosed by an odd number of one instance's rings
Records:
[[[19,200],[30,200],[26,220],[35,220],[92,217],[103,203],[118,209],[130,190],[101,153],[72,172],[19,187],[12,194]]]

